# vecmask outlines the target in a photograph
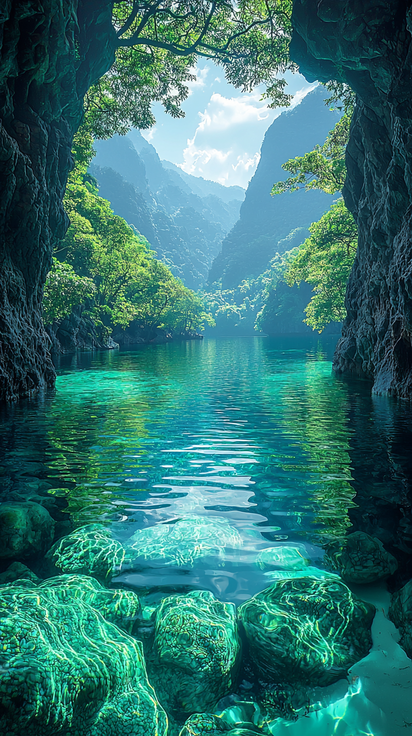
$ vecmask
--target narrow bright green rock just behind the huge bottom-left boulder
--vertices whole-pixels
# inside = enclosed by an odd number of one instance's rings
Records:
[[[141,604],[135,592],[121,588],[104,588],[86,575],[61,575],[49,578],[38,590],[53,590],[63,604],[66,600],[84,601],[99,611],[103,618],[132,633],[135,620],[141,616]]]

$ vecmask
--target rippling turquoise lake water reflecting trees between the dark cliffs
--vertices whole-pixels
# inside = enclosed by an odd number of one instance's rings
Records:
[[[63,520],[103,521],[119,539],[193,515],[238,530],[241,555],[223,551],[185,569],[155,560],[118,578],[148,601],[200,588],[241,604],[270,582],[257,551],[294,542],[322,568],[323,545],[353,523],[370,534],[379,528],[406,554],[410,407],[371,397],[369,383],[336,378],[334,344],[205,339],[61,358],[56,392],[2,409],[4,493],[10,478],[31,482],[34,493],[49,488],[65,501]],[[368,595],[388,603],[386,587]],[[399,664],[406,657],[392,640]],[[383,690],[372,690],[376,710]],[[402,714],[396,722],[386,714],[392,721],[383,726],[371,708],[348,731],[331,730],[333,716],[324,733],[372,733],[371,718],[374,736],[405,733]],[[311,733],[296,728],[288,734]]]

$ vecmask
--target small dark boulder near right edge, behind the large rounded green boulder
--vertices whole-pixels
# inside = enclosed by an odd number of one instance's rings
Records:
[[[333,542],[327,548],[325,564],[338,570],[347,583],[374,583],[393,575],[398,563],[382,542],[364,531],[348,534],[343,542]]]

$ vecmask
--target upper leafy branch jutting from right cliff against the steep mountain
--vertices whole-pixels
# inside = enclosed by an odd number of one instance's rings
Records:
[[[349,138],[350,116],[345,114],[330,131],[323,146],[315,146],[304,156],[290,158],[282,164],[293,176],[273,185],[271,195],[305,188],[322,189],[327,194],[342,191],[345,183],[345,149]]]

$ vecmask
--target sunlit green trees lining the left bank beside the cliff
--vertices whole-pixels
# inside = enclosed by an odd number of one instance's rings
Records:
[[[116,216],[110,202],[99,197],[87,174],[92,143],[85,127],[74,138],[75,166],[64,199],[71,224],[57,252],[64,263],[54,259],[46,283],[46,323],[69,314],[87,297],[96,325],[109,330],[132,321],[148,333],[157,328],[195,331],[205,321],[213,325],[202,299],[155,258],[146,238]]]

